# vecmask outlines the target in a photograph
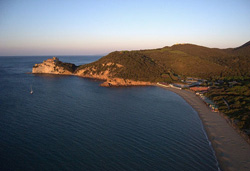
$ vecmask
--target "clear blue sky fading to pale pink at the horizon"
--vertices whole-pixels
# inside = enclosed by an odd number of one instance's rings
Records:
[[[250,0],[0,0],[0,56],[97,55],[175,43],[238,47]]]

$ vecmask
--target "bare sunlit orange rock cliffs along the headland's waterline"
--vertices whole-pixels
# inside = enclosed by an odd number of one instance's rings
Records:
[[[104,80],[102,84],[103,87],[117,87],[117,86],[146,86],[152,85],[151,82],[146,81],[134,81],[130,79],[123,79],[114,77],[110,72],[109,66],[123,67],[120,64],[104,63],[103,67],[107,67],[99,73],[96,72],[95,67],[78,67],[71,63],[63,63],[59,61],[57,57],[47,59],[40,64],[35,64],[32,69],[33,74],[57,74],[57,75],[76,75],[84,78],[92,78]]]

